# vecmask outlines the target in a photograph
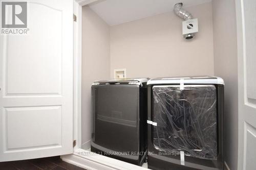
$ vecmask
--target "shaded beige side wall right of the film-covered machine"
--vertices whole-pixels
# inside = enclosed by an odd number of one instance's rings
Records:
[[[238,56],[236,7],[233,0],[212,1],[215,75],[225,82],[224,150],[231,170],[238,164]]]

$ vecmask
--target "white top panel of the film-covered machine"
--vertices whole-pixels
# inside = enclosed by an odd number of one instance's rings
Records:
[[[147,81],[150,84],[223,84],[224,81],[220,77],[214,76],[198,76],[198,77],[170,77],[170,78],[156,78]]]

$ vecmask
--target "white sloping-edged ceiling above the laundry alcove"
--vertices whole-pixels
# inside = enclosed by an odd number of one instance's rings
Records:
[[[176,3],[196,6],[211,0],[98,0],[88,6],[110,26],[173,10]]]

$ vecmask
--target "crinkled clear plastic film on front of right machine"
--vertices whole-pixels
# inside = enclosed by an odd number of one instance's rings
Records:
[[[153,144],[162,152],[217,159],[217,94],[214,85],[153,87]]]

